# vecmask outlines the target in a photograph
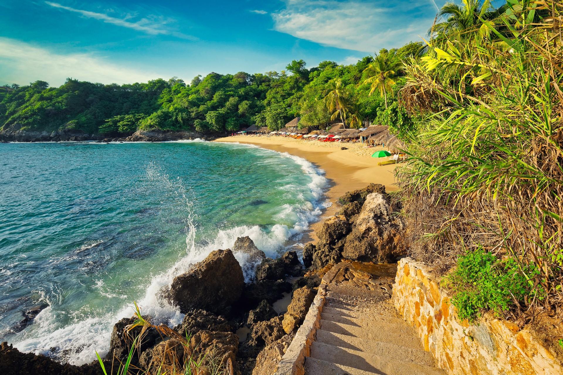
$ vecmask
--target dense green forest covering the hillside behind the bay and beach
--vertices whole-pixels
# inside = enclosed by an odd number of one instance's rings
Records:
[[[396,89],[387,87],[383,95],[372,91],[374,64],[377,58],[392,58],[398,65],[421,48],[422,43],[409,43],[391,51],[382,49],[355,65],[323,61],[307,69],[305,61],[294,60],[280,73],[210,73],[189,84],[174,77],[123,85],[72,78],[58,88],[43,81],[6,85],[0,89],[0,129],[17,126],[115,135],[137,129],[222,133],[252,124],[276,130],[296,116],[301,116],[301,126],[325,126],[331,117],[356,128],[362,121],[374,120],[394,125],[408,116],[396,104]],[[338,84],[333,102],[325,100],[329,82]],[[393,84],[400,85],[401,80]]]

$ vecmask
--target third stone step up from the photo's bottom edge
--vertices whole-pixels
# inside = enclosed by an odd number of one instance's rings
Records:
[[[435,365],[432,355],[424,351],[422,347],[420,349],[414,349],[412,347],[389,344],[388,342],[371,341],[365,340],[364,338],[341,335],[339,333],[324,331],[323,329],[316,331],[315,341],[346,349],[363,351],[369,354],[388,356],[389,358],[402,360],[404,362],[412,362],[430,367],[434,367]]]

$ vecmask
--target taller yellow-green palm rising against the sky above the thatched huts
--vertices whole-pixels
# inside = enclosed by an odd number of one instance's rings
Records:
[[[394,51],[385,51],[376,55],[373,62],[364,69],[364,73],[369,76],[364,81],[364,84],[372,84],[369,94],[371,95],[376,89],[379,89],[379,92],[385,97],[385,108],[387,108],[387,92],[393,92],[392,87],[395,84],[393,79],[396,76],[397,70],[399,70],[400,64],[401,60]]]

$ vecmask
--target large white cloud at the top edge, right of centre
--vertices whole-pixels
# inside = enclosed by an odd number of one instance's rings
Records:
[[[272,13],[274,29],[324,46],[374,52],[425,35],[435,16],[432,2],[390,0],[285,0]]]

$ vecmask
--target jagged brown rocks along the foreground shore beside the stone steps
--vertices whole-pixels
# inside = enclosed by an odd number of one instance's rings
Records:
[[[303,264],[294,251],[278,259],[267,258],[249,237],[239,237],[232,249],[213,251],[178,275],[159,291],[159,297],[185,314],[182,323],[172,329],[157,326],[151,317],[140,313],[120,320],[104,358],[106,369],[112,363],[126,362],[133,341],[139,337],[131,360],[138,373],[183,368],[191,359],[205,358],[204,363],[221,365],[226,373],[271,374],[305,319],[320,279],[331,264],[344,258],[387,263],[403,254],[400,232],[404,224],[397,215],[400,207],[385,187],[370,184],[342,196],[339,203],[342,209],[321,226],[319,241],[306,245]],[[247,259],[244,270],[234,254]],[[249,271],[254,277],[245,282],[243,272]],[[291,293],[291,302],[278,314],[272,305],[284,293]],[[97,362],[81,367],[60,364],[48,356],[20,353],[7,343],[0,348],[0,371],[101,373]]]

